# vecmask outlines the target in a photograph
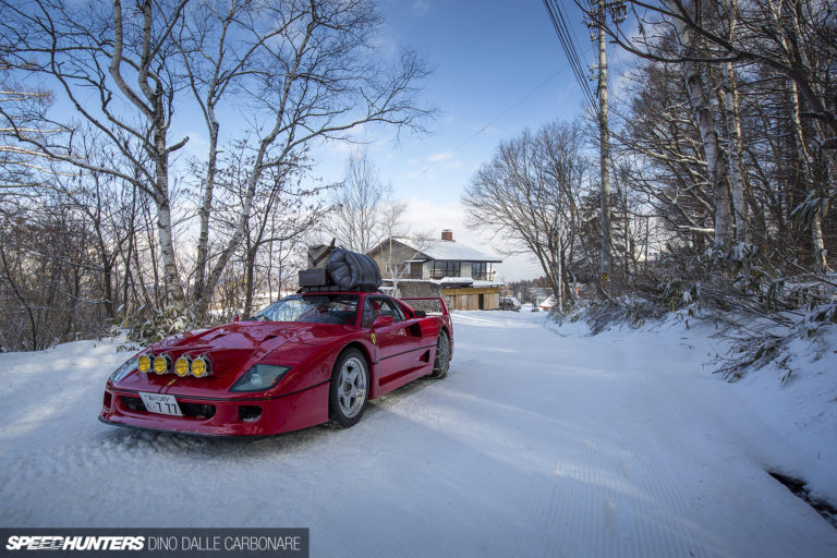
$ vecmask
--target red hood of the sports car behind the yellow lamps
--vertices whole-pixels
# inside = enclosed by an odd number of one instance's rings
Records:
[[[172,362],[182,355],[207,355],[211,362],[210,376],[181,378],[177,374],[135,372],[117,387],[137,391],[217,397],[219,391],[229,391],[253,364],[267,361],[293,366],[311,355],[315,347],[322,348],[351,330],[348,326],[328,324],[238,322],[180,333],[146,348],[140,354],[168,354]]]

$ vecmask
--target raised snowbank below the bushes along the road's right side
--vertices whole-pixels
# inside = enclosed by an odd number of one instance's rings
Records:
[[[583,319],[545,325],[563,337],[590,336]],[[716,326],[683,311],[639,328],[619,324],[599,336],[603,341],[619,338],[641,345],[653,339],[648,344],[654,348],[688,345],[704,355],[702,374],[726,386],[735,404],[762,423],[755,426],[771,430],[766,437],[755,432],[749,437],[764,456],[765,470],[803,481],[811,499],[837,508],[837,326],[822,327],[812,339],[791,341],[785,349],[787,359],[747,369],[742,379],[730,383],[713,375],[716,359],[728,356],[729,350],[717,333]]]

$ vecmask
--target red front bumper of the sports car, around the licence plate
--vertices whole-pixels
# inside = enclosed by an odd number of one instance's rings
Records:
[[[99,421],[118,426],[204,436],[265,436],[328,421],[329,383],[274,398],[178,396],[184,416],[151,413],[136,391],[105,388]]]

